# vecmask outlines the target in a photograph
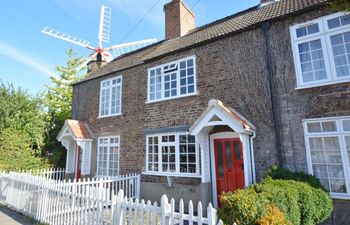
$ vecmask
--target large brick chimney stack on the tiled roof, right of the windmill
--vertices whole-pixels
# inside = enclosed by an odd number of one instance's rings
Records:
[[[195,15],[183,0],[172,0],[164,5],[165,39],[173,39],[187,34],[195,28]]]

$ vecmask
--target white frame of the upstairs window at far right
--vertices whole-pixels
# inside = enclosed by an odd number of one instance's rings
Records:
[[[326,85],[337,84],[337,83],[350,82],[350,75],[344,76],[344,77],[337,77],[333,51],[332,51],[332,46],[330,41],[331,36],[350,32],[350,24],[333,28],[333,29],[328,28],[328,20],[345,16],[348,14],[349,13],[346,13],[346,12],[333,13],[333,14],[326,15],[304,23],[295,24],[289,27],[292,52],[293,52],[293,60],[294,60],[294,68],[295,68],[296,81],[297,81],[295,89],[305,89],[305,88],[311,88],[311,87],[319,87],[319,86],[326,86]],[[316,23],[318,24],[318,27],[319,27],[319,31],[317,33],[302,36],[302,37],[297,37],[296,30],[298,28],[306,27]],[[313,40],[321,40],[327,79],[315,80],[311,82],[303,82],[298,45],[301,43],[306,43]]]

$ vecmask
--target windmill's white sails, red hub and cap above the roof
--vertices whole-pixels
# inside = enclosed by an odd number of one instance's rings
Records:
[[[109,51],[113,51],[114,57],[118,57],[122,54],[137,50],[139,48],[153,44],[157,41],[157,39],[147,39],[142,41],[117,44],[111,47],[104,48],[102,46],[102,42],[105,42],[105,43],[109,42],[109,35],[110,35],[110,28],[111,28],[111,15],[112,15],[112,9],[110,7],[102,5],[101,11],[100,11],[100,25],[99,25],[99,32],[98,32],[97,47],[91,46],[90,42],[86,40],[82,40],[80,38],[62,33],[50,27],[45,27],[41,32],[93,51],[93,53],[85,61],[81,63],[81,65],[77,68],[77,71],[80,71],[84,66],[88,65],[92,61],[98,62],[99,67],[104,63],[108,63],[112,61],[113,56],[111,53],[109,53]]]

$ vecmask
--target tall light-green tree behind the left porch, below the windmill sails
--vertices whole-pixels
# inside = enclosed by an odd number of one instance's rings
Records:
[[[65,166],[65,149],[58,143],[56,137],[61,130],[64,121],[71,118],[72,113],[72,84],[86,76],[80,75],[77,68],[80,66],[82,58],[76,57],[72,49],[66,51],[67,64],[57,66],[58,77],[51,77],[51,85],[47,86],[45,104],[48,112],[48,131],[45,140],[45,151],[50,152],[50,161],[57,167]]]

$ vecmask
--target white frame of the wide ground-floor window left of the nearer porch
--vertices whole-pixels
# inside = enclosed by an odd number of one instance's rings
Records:
[[[168,143],[162,143],[161,139],[162,136],[169,136],[169,135],[175,135],[175,172],[163,172],[162,170],[162,146],[167,146]],[[196,173],[184,173],[180,172],[180,135],[190,135],[188,132],[173,132],[173,133],[160,133],[160,134],[150,134],[146,135],[146,165],[145,165],[145,172],[143,174],[146,175],[156,175],[156,176],[168,176],[168,177],[195,177],[200,178],[201,177],[201,159],[200,159],[200,149],[198,145],[198,140],[196,137],[195,140],[195,155],[196,155]],[[149,137],[158,137],[158,171],[152,171],[148,168],[149,163],[149,143],[148,139]],[[172,143],[172,142],[170,142]],[[188,143],[187,143],[188,144]]]

